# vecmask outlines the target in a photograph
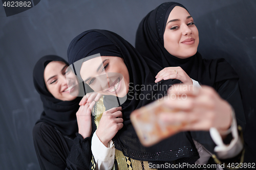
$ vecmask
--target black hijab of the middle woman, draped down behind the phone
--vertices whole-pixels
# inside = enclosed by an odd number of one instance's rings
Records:
[[[167,88],[159,88],[161,85],[166,84],[169,87],[174,83],[180,83],[180,81],[168,80],[156,84],[152,70],[135,48],[119,35],[105,30],[89,30],[75,37],[68,48],[69,63],[73,64],[97,53],[100,53],[101,56],[123,58],[129,71],[130,83],[132,83],[130,84],[127,100],[121,105],[124,126],[113,138],[115,148],[122,151],[125,156],[136,160],[194,163],[199,155],[189,132],[178,133],[153,147],[145,148],[140,144],[130,121],[132,111],[157,100],[166,93]],[[160,67],[155,64],[152,68],[159,69]],[[80,71],[79,68],[75,69],[76,72]],[[137,87],[138,90],[135,91],[134,88],[131,88],[135,85],[157,85],[158,90],[142,90]],[[135,96],[140,94],[147,95],[147,99],[136,99]],[[108,100],[108,96],[104,98],[105,100]]]

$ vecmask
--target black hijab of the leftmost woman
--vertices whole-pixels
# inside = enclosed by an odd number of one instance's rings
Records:
[[[54,55],[44,56],[35,64],[33,70],[34,86],[40,94],[41,101],[44,105],[44,111],[36,124],[46,122],[57,128],[63,135],[75,137],[75,133],[78,132],[76,112],[79,108],[78,104],[81,98],[76,98],[73,101],[61,101],[54,98],[48,91],[45,84],[44,71],[47,64],[51,61],[62,61],[69,65],[64,59]]]

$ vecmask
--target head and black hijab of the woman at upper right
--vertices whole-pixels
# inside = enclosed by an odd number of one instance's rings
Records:
[[[186,16],[185,19],[181,14]],[[135,47],[141,55],[161,67],[175,67],[178,77],[177,67],[181,67],[181,71],[184,70],[191,79],[215,89],[218,89],[217,82],[238,79],[236,72],[224,59],[202,59],[197,52],[198,43],[198,30],[186,8],[179,3],[167,2],[142,19],[137,30]],[[175,73],[173,71],[172,75]],[[163,77],[160,80],[162,79]]]

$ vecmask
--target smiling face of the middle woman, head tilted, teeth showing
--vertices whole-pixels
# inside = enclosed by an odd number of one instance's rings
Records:
[[[123,59],[101,56],[82,63],[81,78],[95,92],[124,97],[129,90],[130,77]]]

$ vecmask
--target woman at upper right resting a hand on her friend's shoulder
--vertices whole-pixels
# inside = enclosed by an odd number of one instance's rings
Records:
[[[185,83],[191,78],[214,87],[232,105],[237,122],[244,130],[246,121],[236,72],[224,59],[203,59],[197,51],[198,43],[193,17],[183,5],[167,2],[142,19],[135,46],[141,55],[161,65],[155,72],[156,82],[179,79]]]

